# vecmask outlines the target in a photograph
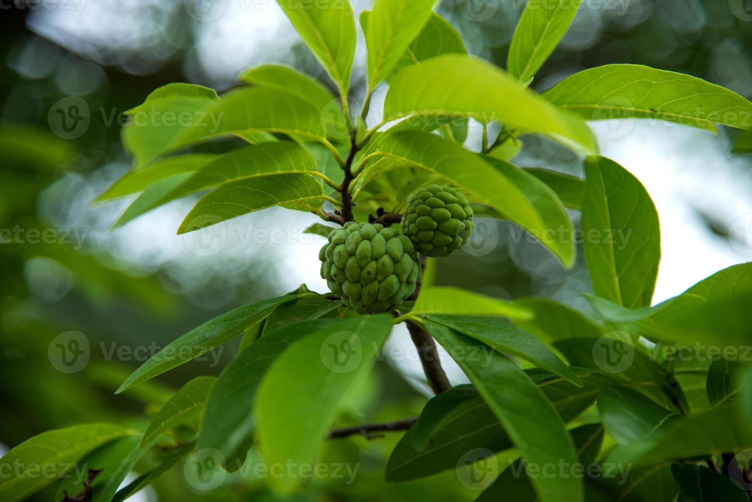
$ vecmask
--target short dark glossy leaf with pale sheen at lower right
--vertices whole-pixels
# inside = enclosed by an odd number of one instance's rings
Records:
[[[659,437],[680,417],[628,387],[608,387],[598,395],[598,410],[608,434],[619,443]]]

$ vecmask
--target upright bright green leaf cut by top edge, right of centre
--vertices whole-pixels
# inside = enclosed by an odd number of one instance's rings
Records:
[[[572,24],[581,0],[529,0],[514,30],[507,71],[527,82],[553,53]]]

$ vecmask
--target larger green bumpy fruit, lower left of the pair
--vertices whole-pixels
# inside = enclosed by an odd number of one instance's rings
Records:
[[[361,314],[402,304],[422,274],[412,241],[378,224],[347,222],[332,230],[319,259],[332,293]]]

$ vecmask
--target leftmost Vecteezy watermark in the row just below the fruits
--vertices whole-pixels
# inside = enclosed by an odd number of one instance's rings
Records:
[[[154,355],[179,361],[204,361],[209,367],[220,364],[224,346],[159,346],[156,342],[146,345],[128,346],[114,342],[99,342],[99,351],[105,361],[145,362]],[[47,346],[47,358],[50,364],[61,373],[78,373],[83,370],[92,357],[89,337],[80,331],[65,331],[53,338]]]

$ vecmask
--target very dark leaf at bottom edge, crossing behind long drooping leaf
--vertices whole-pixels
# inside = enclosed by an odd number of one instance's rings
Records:
[[[600,424],[582,425],[572,430],[580,464],[584,467],[596,459],[603,443],[603,426]],[[566,471],[564,471],[566,473]],[[572,471],[574,473],[574,470]],[[510,464],[487,488],[475,502],[496,502],[496,500],[514,500],[514,502],[535,502],[538,495],[532,488],[522,458]]]

